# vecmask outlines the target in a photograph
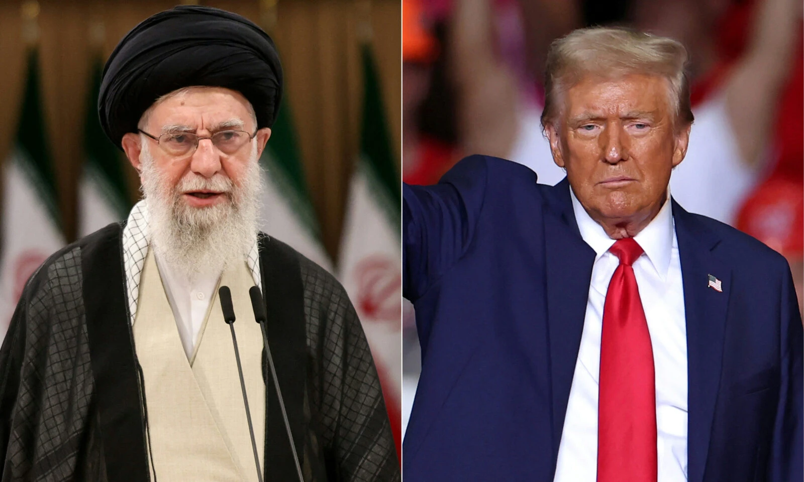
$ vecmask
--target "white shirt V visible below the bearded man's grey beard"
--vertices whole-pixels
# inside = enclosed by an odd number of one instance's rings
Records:
[[[210,307],[212,296],[215,296],[215,287],[218,285],[219,276],[199,277],[198,280],[187,280],[170,263],[159,259],[154,253],[159,276],[162,277],[162,286],[165,288],[167,302],[173,310],[173,317],[176,320],[178,336],[182,339],[184,353],[187,353],[187,360],[191,360],[195,352],[195,345],[198,344],[201,325],[207,318],[207,311]],[[223,320],[220,320],[223,323]]]

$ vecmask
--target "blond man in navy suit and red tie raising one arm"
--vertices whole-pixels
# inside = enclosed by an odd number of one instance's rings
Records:
[[[679,206],[687,52],[574,31],[547,62],[556,186],[494,157],[404,186],[422,373],[412,480],[802,480],[786,260]]]

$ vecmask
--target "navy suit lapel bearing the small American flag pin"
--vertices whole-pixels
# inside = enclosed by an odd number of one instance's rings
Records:
[[[720,238],[675,201],[673,217],[687,318],[687,475],[690,482],[701,482],[720,386],[732,275],[728,265],[714,253]],[[722,282],[723,292],[708,288],[709,275]]]

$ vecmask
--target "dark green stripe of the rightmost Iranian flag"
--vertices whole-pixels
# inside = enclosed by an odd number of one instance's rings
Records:
[[[369,179],[376,189],[384,192],[384,210],[388,219],[398,227],[400,219],[400,176],[391,150],[391,137],[385,118],[379,76],[371,46],[363,44],[363,125],[360,130],[361,161],[371,174]]]

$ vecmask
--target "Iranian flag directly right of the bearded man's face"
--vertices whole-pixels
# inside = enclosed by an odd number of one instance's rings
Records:
[[[299,161],[296,132],[286,99],[287,96],[282,98],[271,137],[260,157],[264,186],[260,230],[276,236],[332,272],[332,262],[321,243],[318,219]]]

